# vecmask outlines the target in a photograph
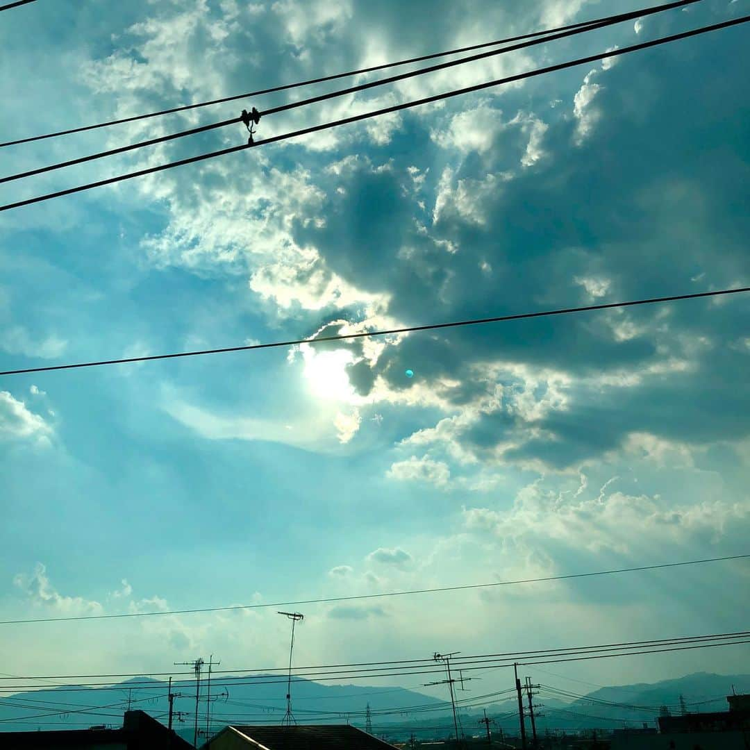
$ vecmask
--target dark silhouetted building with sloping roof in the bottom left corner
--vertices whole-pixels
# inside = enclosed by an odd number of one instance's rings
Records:
[[[190,750],[172,730],[143,711],[126,711],[118,729],[2,732],[2,750]]]

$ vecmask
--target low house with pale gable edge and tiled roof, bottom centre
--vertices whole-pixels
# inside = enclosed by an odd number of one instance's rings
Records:
[[[349,725],[225,727],[202,750],[393,750],[393,745]]]

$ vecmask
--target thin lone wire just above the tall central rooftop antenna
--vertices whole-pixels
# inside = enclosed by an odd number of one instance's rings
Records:
[[[747,290],[745,290],[747,291]],[[0,625],[24,625],[30,622],[80,622],[85,619],[123,619],[126,617],[155,617],[173,614],[196,614],[206,612],[229,612],[234,610],[266,609],[268,607],[290,607],[297,604],[330,604],[336,601],[361,601],[363,599],[377,599],[388,596],[407,596],[412,594],[432,594],[446,591],[466,591],[468,589],[487,589],[496,586],[514,586],[519,583],[542,583],[550,580],[569,580],[571,578],[586,578],[598,575],[611,575],[616,573],[632,573],[636,571],[658,570],[661,568],[677,568],[685,565],[701,565],[706,562],[724,562],[725,560],[746,559],[750,553],[740,555],[727,555],[724,557],[707,557],[697,560],[685,560],[684,562],[660,562],[656,565],[638,565],[632,568],[614,568],[612,570],[594,571],[591,573],[568,573],[565,575],[550,575],[538,578],[523,578],[518,580],[501,580],[494,583],[468,583],[461,586],[440,586],[432,589],[412,589],[410,591],[391,591],[380,594],[359,594],[353,596],[331,596],[319,599],[304,599],[300,601],[275,601],[272,604],[233,604],[229,607],[196,607],[194,609],[168,610],[159,612],[126,612],[120,614],[87,614],[70,617],[38,617],[31,619],[5,619],[0,620]]]

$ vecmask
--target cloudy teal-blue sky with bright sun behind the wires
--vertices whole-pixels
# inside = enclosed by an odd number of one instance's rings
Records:
[[[39,0],[0,14],[0,139],[640,7]],[[748,13],[702,0],[262,118],[257,138]],[[6,211],[0,369],[747,286],[747,28]],[[368,80],[360,77],[358,80]],[[4,148],[2,172],[338,88]],[[0,186],[240,145],[242,125]],[[744,295],[0,380],[0,619],[546,577],[747,553]],[[413,371],[407,377],[406,371]],[[720,562],[299,607],[296,661],[745,628]],[[7,673],[284,664],[275,609],[2,625]],[[748,670],[747,646],[584,664]],[[507,687],[493,673],[483,687]],[[405,687],[414,687],[407,684]],[[491,683],[491,684],[490,684]],[[382,683],[379,683],[382,684]],[[510,683],[511,684],[511,683]]]

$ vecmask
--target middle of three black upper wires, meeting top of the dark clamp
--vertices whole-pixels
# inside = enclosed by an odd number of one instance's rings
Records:
[[[599,28],[605,28],[607,26],[613,26],[616,23],[623,23],[628,20],[633,20],[634,18],[640,18],[644,16],[652,15],[652,13],[661,13],[664,10],[673,10],[676,7],[683,7],[685,5],[691,5],[696,2],[700,2],[701,0],[676,0],[674,2],[668,3],[667,5],[658,5],[654,7],[646,7],[642,8],[640,10],[633,10],[630,13],[620,13],[617,16],[609,16],[604,17],[601,19],[592,20],[589,22],[586,22],[586,25],[582,28],[573,28],[568,31],[560,31],[559,33],[554,33],[553,31],[549,32],[538,32],[539,34],[548,33],[549,36],[544,36],[537,39],[532,39],[529,41],[521,42],[514,44],[512,46],[503,47],[502,49],[491,49],[489,52],[480,52],[476,55],[471,55],[470,57],[466,58],[458,58],[457,60],[449,60],[448,62],[442,62],[438,65],[431,65],[428,68],[418,68],[415,71],[407,71],[406,73],[401,73],[395,76],[391,76],[388,78],[382,78],[375,81],[369,81],[368,83],[359,83],[355,86],[348,86],[346,89],[339,89],[338,91],[334,92],[326,92],[326,94],[317,95],[314,97],[310,97],[307,99],[299,99],[297,101],[288,102],[287,104],[281,104],[278,107],[272,107],[269,110],[263,110],[263,112],[260,113],[261,116],[266,117],[268,115],[274,115],[280,112],[286,112],[287,110],[294,110],[299,107],[307,107],[311,104],[317,104],[322,101],[328,101],[329,99],[338,98],[347,94],[354,94],[356,92],[362,92],[367,89],[374,89],[379,86],[387,86],[391,83],[397,83],[398,81],[407,80],[408,78],[413,78],[417,76],[423,76],[426,74],[434,73],[436,71],[442,71],[446,68],[453,68],[457,65],[466,65],[469,62],[476,62],[478,60],[482,60],[485,58],[490,58],[496,55],[503,55],[505,52],[514,52],[518,49],[526,49],[529,46],[535,46],[537,44],[543,44],[550,41],[562,39],[565,37],[574,36],[575,34],[583,34],[588,31],[595,31]],[[61,161],[55,164],[50,164],[49,166],[40,166],[36,169],[28,169],[26,172],[17,172],[17,174],[14,175],[7,175],[5,177],[0,177],[0,184],[3,182],[10,182],[13,180],[18,180],[21,178],[26,177],[33,177],[34,175],[40,175],[45,172],[52,172],[55,169],[63,169],[66,166],[75,166],[77,164],[83,164],[89,161],[94,161],[98,159],[102,159],[104,157],[108,156],[115,156],[116,154],[124,154],[127,151],[133,151],[136,148],[145,148],[149,145],[156,145],[157,143],[163,143],[169,140],[174,140],[177,138],[184,138],[186,136],[196,135],[197,133],[205,133],[208,130],[216,130],[219,127],[226,127],[227,125],[231,124],[237,124],[239,122],[242,122],[242,116],[236,116],[232,118],[228,118],[226,120],[220,120],[217,122],[208,123],[205,125],[198,125],[196,127],[191,127],[188,130],[179,130],[177,133],[169,133],[168,135],[164,136],[157,136],[154,138],[149,138],[144,141],[139,141],[137,143],[130,143],[129,145],[123,145],[118,146],[117,148],[110,148],[107,151],[99,151],[96,154],[89,154],[89,156],[82,156],[77,157],[74,159],[69,159],[67,161]]]

